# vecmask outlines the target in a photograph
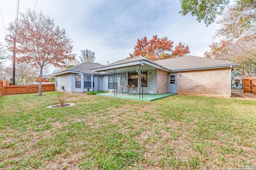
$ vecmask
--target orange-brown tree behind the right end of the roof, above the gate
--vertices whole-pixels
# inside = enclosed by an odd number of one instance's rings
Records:
[[[237,41],[221,40],[210,45],[205,57],[240,63],[238,71],[248,77],[256,76],[256,39],[242,37]]]

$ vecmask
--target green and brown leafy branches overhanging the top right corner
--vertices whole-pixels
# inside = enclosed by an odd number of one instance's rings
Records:
[[[238,39],[244,35],[256,37],[256,2],[255,0],[180,0],[184,16],[191,14],[198,21],[204,21],[206,26],[222,16],[217,22],[221,28],[217,35],[228,39]]]

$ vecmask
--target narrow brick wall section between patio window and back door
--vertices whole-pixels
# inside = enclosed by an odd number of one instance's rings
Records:
[[[156,94],[168,93],[168,72],[157,69],[156,76],[157,76]]]

